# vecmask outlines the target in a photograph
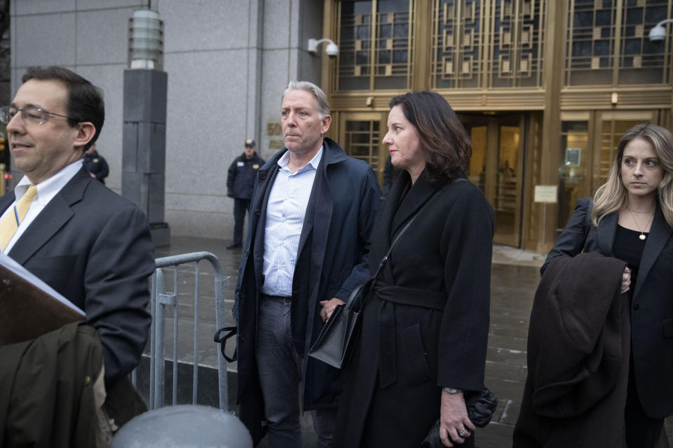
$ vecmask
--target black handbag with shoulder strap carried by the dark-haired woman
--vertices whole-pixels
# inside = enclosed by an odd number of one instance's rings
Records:
[[[386,255],[383,255],[379,268],[376,269],[374,275],[353,290],[351,295],[348,296],[346,304],[338,305],[334,309],[332,316],[329,316],[325,325],[322,326],[318,338],[315,339],[311,349],[308,350],[308,356],[321,360],[323,363],[327,363],[337,369],[340,369],[346,360],[348,360],[351,353],[353,353],[355,341],[360,335],[360,319],[362,318],[362,309],[365,308],[367,302],[369,290],[374,284],[376,277],[379,276],[381,268],[388,261],[388,256],[393,251],[395,243],[397,243],[397,240],[400,239],[405,230],[409,228],[414,218],[416,218],[416,215],[397,233],[397,236],[395,236],[395,239],[390,244],[390,248],[388,248],[388,252]]]

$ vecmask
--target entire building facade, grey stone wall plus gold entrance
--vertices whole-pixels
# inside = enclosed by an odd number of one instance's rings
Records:
[[[103,87],[99,148],[121,187],[128,18],[164,22],[168,72],[166,221],[173,235],[229,238],[226,168],[247,137],[283,147],[280,97],[318,83],[330,137],[381,176],[388,102],[434,90],[473,141],[470,180],[496,211],[496,241],[545,253],[576,199],[606,179],[621,134],[672,117],[673,0],[20,0],[13,91],[30,65],[60,64]],[[332,38],[339,55],[307,51]]]

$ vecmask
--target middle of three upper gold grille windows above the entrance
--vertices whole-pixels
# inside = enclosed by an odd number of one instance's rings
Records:
[[[435,0],[432,87],[542,87],[546,5]]]

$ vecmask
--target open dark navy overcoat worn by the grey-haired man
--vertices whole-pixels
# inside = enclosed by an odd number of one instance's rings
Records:
[[[379,183],[367,163],[348,157],[331,139],[326,138],[323,145],[299,237],[292,283],[290,323],[294,348],[300,355],[308,352],[322,328],[318,301],[332,297],[346,300],[351,290],[369,276],[365,254],[381,197]],[[279,151],[259,169],[238,270],[233,314],[238,325],[238,402],[245,409],[250,403],[259,402],[261,394],[254,339],[263,281],[264,223],[268,192],[278,172],[278,159],[285,151]],[[305,356],[304,360],[304,410],[336,407],[344,386],[341,372],[313,358]],[[245,412],[241,419],[252,428],[259,423],[257,417],[249,418]]]

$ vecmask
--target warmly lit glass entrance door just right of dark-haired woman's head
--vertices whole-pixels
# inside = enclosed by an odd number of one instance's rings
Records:
[[[460,116],[472,140],[470,181],[479,186],[496,214],[494,241],[521,243],[524,123],[521,113]]]

